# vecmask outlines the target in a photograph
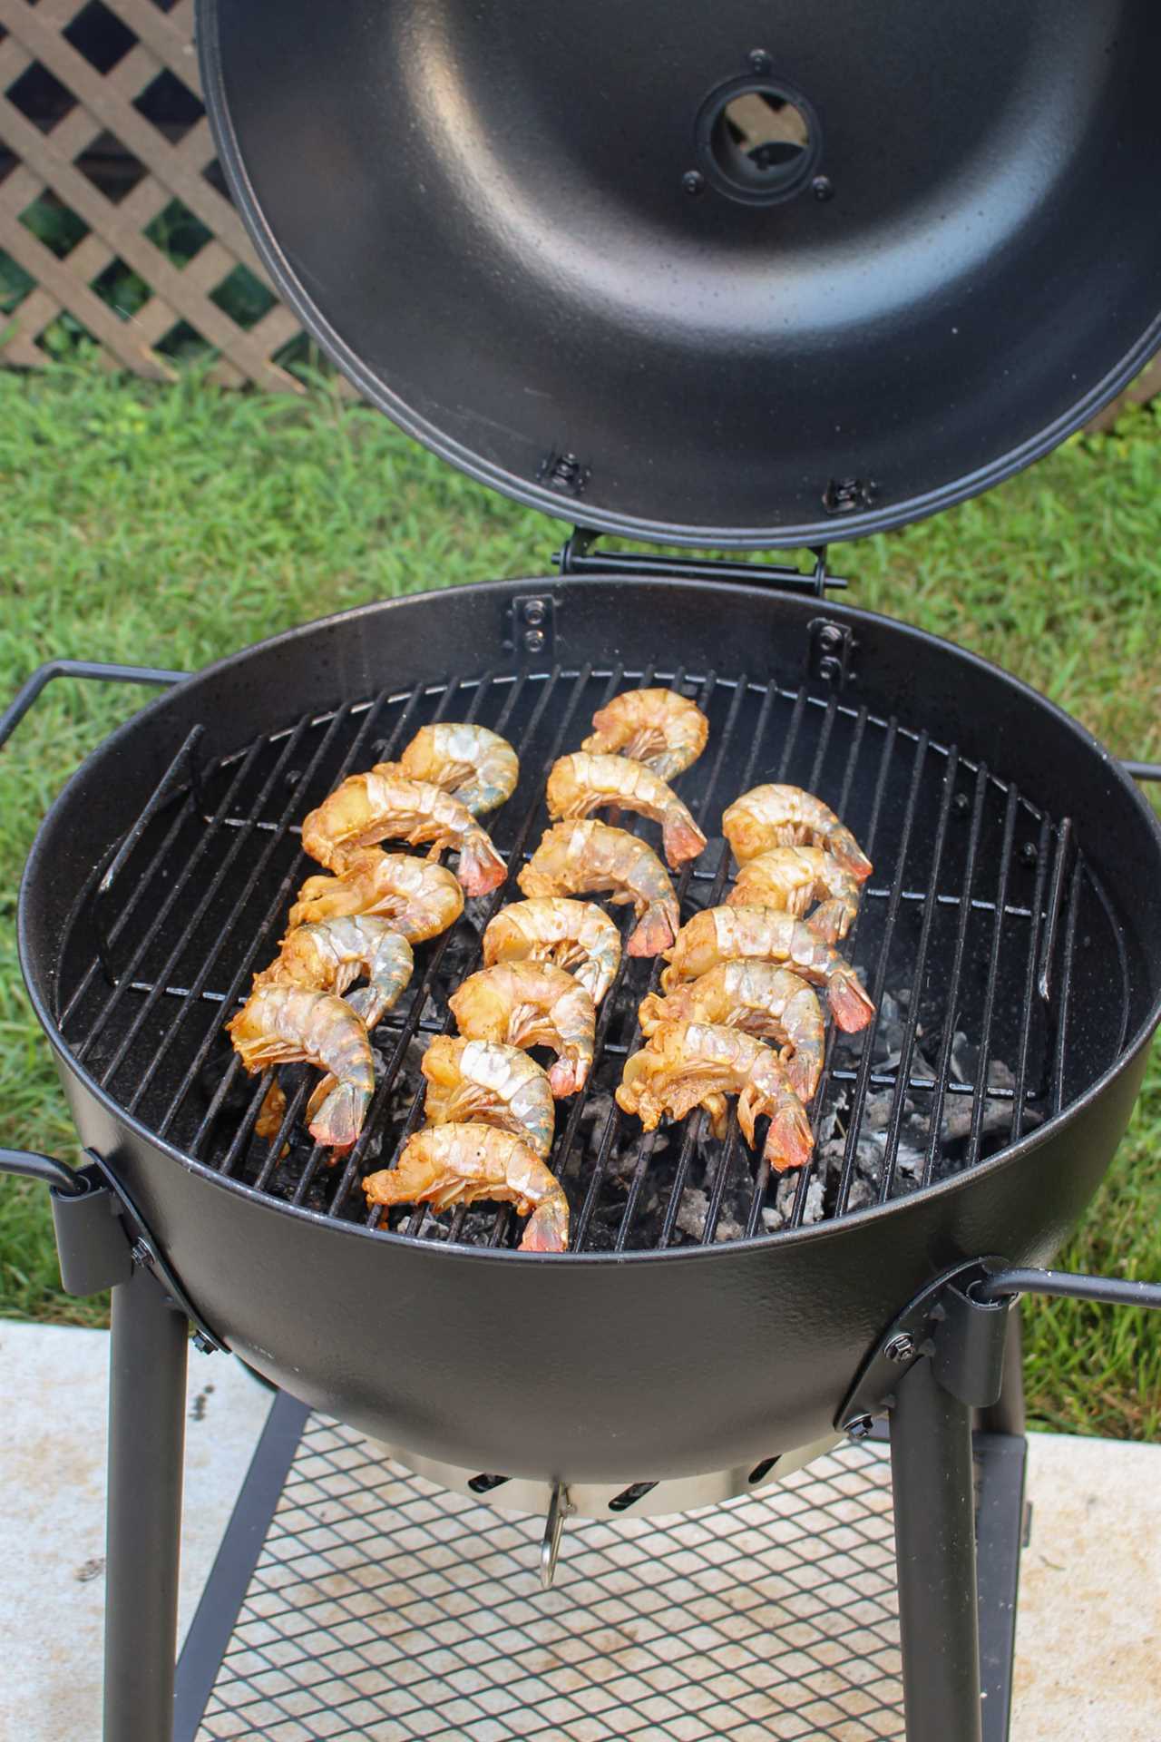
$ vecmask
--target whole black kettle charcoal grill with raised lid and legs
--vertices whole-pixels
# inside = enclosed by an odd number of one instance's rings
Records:
[[[1051,54],[1034,5],[935,42],[924,24],[917,78],[902,0],[905,52],[855,9],[764,19],[776,52],[740,7],[667,9],[667,77],[642,89],[649,9],[552,33],[522,3],[331,10],[200,7],[265,263],[397,422],[580,524],[552,578],[367,606],[176,683],[33,847],[21,956],[91,1165],[9,1165],[54,1183],[66,1286],[115,1284],[106,1735],[169,1723],[190,1320],[421,1474],[543,1507],[548,1570],[569,1510],[762,1491],[889,1408],[909,1733],[975,1742],[970,1428],[975,1408],[1018,1434],[1011,1301],[1161,1298],[1037,1268],[1109,1165],[1161,1016],[1161,831],[1131,779],[1158,770],[839,603],[827,540],[1027,463],[1156,347],[1156,19],[1069,7]],[[740,160],[736,98],[795,110],[799,155]],[[1029,291],[1044,261],[1051,308]],[[811,561],[599,549],[609,533]],[[684,916],[721,897],[721,810],[755,780],[818,791],[876,861],[849,953],[881,1017],[830,1040],[811,1167],[776,1181],[735,1125],[642,1138],[616,1111],[654,976],[627,962],[559,1117],[567,1254],[515,1251],[503,1209],[367,1218],[360,1179],[421,1117],[416,1043],[513,894],[552,760],[648,683],[710,716],[682,777],[710,836]],[[439,718],[520,751],[494,822],[510,878],[419,953],[364,1136],[331,1167],[291,1073],[282,1131],[254,1136],[266,1082],[221,1026],[308,869],[299,819]]]

